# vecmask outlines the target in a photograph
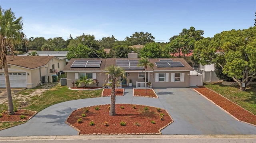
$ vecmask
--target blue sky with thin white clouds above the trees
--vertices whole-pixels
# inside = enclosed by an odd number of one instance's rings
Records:
[[[168,42],[183,28],[204,30],[204,37],[254,26],[256,0],[0,0],[23,17],[24,33],[67,40],[83,33],[124,40],[133,33],[151,33]]]

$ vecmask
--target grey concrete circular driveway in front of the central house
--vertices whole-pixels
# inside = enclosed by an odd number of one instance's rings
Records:
[[[232,118],[191,88],[154,89],[159,98],[134,97],[132,89],[116,96],[116,103],[141,104],[168,110],[174,122],[162,134],[256,134],[256,127]],[[110,97],[88,98],[50,106],[27,123],[0,131],[1,137],[39,135],[77,135],[64,123],[73,110],[86,106],[110,104]]]

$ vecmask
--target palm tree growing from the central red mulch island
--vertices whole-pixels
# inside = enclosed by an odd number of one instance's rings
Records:
[[[108,75],[107,79],[112,80],[111,85],[111,103],[110,103],[110,111],[109,116],[116,115],[116,84],[118,80],[122,77],[123,80],[126,80],[124,68],[116,67],[114,65],[105,68],[106,75]]]

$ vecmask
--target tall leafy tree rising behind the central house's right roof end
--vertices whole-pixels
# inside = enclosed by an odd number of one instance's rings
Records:
[[[166,48],[173,55],[177,55],[178,58],[184,58],[188,61],[188,54],[194,49],[194,43],[204,37],[202,35],[204,31],[196,30],[194,27],[190,29],[182,29],[179,35],[175,35],[170,38],[170,43],[166,45]]]

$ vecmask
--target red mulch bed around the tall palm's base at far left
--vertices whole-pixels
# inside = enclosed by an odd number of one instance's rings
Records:
[[[0,117],[0,121],[27,121],[30,117],[33,117],[36,112],[29,111],[29,110],[17,110],[17,112],[14,112],[14,115],[10,115],[8,117],[7,112],[2,113],[2,117]],[[25,115],[24,119],[20,118],[20,115]]]

